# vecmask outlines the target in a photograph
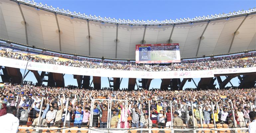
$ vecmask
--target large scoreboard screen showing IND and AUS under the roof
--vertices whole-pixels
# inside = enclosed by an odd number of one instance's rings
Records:
[[[181,62],[179,44],[138,44],[136,63]]]

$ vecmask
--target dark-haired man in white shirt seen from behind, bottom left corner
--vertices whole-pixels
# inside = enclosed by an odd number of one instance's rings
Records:
[[[0,130],[2,133],[17,133],[19,119],[14,115],[17,114],[17,108],[10,106],[7,108],[7,114],[0,116]]]

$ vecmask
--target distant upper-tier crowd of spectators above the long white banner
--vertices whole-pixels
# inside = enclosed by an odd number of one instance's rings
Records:
[[[211,58],[205,61],[186,60],[181,63],[169,64],[152,64],[152,65],[138,65],[138,64],[118,64],[118,63],[104,63],[81,60],[61,61],[59,59],[43,59],[37,55],[22,55],[20,52],[1,51],[0,56],[29,60],[33,62],[41,62],[47,64],[57,64],[64,66],[82,67],[82,68],[100,68],[107,70],[127,70],[127,71],[191,71],[191,70],[210,70],[210,69],[229,69],[229,68],[248,68],[256,67],[256,52],[246,56],[226,56],[222,58]]]

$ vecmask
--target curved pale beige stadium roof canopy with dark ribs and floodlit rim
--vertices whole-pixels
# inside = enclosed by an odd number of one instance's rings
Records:
[[[87,16],[28,0],[0,3],[0,39],[40,49],[131,60],[136,44],[179,43],[183,58],[256,49],[256,9],[143,21]]]

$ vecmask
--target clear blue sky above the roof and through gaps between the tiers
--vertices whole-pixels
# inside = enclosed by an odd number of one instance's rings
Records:
[[[193,18],[214,14],[229,13],[238,10],[248,10],[256,6],[255,0],[35,0],[55,8],[64,8],[71,12],[76,11],[86,15],[111,17],[120,19],[139,20],[165,20],[176,18]],[[135,54],[135,53],[134,53]],[[21,70],[22,74],[24,70]],[[221,77],[222,80],[225,77]],[[72,75],[65,75],[65,85],[77,85]],[[91,78],[92,79],[92,78]],[[36,82],[33,73],[29,73],[25,80]],[[139,79],[137,79],[138,82]],[[194,79],[197,84],[200,79]],[[109,86],[108,79],[102,77],[101,86]],[[233,85],[238,85],[238,79],[231,80]],[[218,87],[217,81],[215,81]],[[159,88],[161,79],[154,79],[150,88]],[[227,84],[230,86],[230,83]],[[120,88],[128,86],[128,79],[123,79]],[[195,87],[193,82],[184,86]]]

